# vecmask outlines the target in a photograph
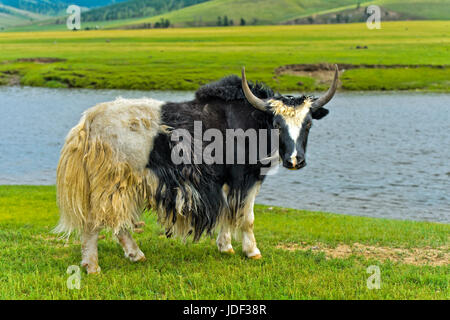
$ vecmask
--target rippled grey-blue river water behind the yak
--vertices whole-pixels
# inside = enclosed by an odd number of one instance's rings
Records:
[[[68,130],[117,96],[193,93],[0,87],[0,184],[54,184]],[[338,93],[330,110],[311,129],[308,166],[269,177],[258,203],[450,222],[450,95]]]

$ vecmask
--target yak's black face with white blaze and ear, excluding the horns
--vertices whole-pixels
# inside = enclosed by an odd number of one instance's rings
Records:
[[[312,110],[308,97],[277,97],[268,101],[273,112],[273,127],[279,130],[279,155],[283,166],[299,170],[306,166],[306,146],[313,119],[321,119],[328,110]]]

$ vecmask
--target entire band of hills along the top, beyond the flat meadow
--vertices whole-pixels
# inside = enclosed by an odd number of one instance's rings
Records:
[[[55,14],[69,0],[0,0],[32,12]],[[365,8],[379,5],[382,21],[449,20],[450,0],[78,0],[90,8],[82,28],[148,28],[164,20],[171,27],[351,23],[367,19]],[[102,6],[105,5],[106,6]],[[99,7],[101,6],[101,7]],[[47,9],[45,9],[47,8]],[[53,8],[53,9],[52,9]],[[58,9],[59,8],[59,9]],[[27,12],[28,12],[27,11]],[[59,11],[61,13],[61,11]],[[65,30],[65,16],[24,18],[2,13],[0,28],[11,31]],[[48,17],[48,16],[47,16]],[[13,27],[11,26],[17,26]],[[1,29],[0,29],[1,30]]]

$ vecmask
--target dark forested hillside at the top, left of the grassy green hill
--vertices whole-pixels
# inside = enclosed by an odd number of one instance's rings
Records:
[[[82,21],[110,21],[151,17],[205,1],[207,0],[131,0],[84,12]]]

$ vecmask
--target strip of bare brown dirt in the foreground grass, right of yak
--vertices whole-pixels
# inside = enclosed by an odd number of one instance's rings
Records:
[[[276,248],[287,251],[311,250],[313,252],[324,252],[327,258],[343,259],[357,255],[363,256],[366,259],[376,259],[379,261],[391,260],[416,266],[446,266],[450,264],[450,246],[438,248],[391,248],[354,243],[352,245],[339,244],[335,248],[332,248],[321,243],[316,245],[287,243],[279,244]]]

